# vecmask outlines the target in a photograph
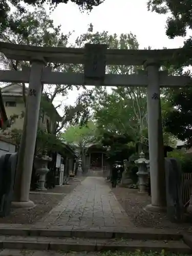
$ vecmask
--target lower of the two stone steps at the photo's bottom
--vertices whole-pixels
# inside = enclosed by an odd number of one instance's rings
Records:
[[[145,252],[164,249],[167,252],[191,254],[182,240],[132,240],[132,239],[76,239],[53,237],[1,236],[2,249],[54,250],[54,251],[135,251]]]

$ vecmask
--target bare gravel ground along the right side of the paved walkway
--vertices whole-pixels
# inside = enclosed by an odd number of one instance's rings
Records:
[[[139,194],[137,189],[116,187],[113,189],[117,200],[122,205],[136,227],[156,227],[192,230],[191,223],[176,224],[168,221],[165,214],[150,213],[143,209],[151,203],[151,197]]]

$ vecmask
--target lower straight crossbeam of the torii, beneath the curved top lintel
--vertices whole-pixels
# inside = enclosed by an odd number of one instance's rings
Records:
[[[116,75],[105,74],[100,86],[123,86],[123,87],[147,87],[148,78],[145,71],[138,75]],[[0,70],[2,82],[25,82],[29,83],[30,68],[23,71]],[[98,81],[91,80],[86,82],[84,74],[75,72],[52,72],[50,68],[44,68],[40,81],[44,84],[71,84],[71,85],[98,85]],[[188,76],[168,76],[166,71],[159,72],[160,87],[184,87],[190,86],[191,78]]]

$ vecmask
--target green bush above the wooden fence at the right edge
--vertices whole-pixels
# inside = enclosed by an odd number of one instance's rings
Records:
[[[185,153],[182,150],[174,150],[167,153],[167,157],[176,158],[181,163],[183,173],[192,172],[192,153]]]

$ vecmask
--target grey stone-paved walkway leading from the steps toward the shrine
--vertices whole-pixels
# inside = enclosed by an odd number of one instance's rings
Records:
[[[133,227],[103,177],[87,177],[36,225],[83,229]]]

